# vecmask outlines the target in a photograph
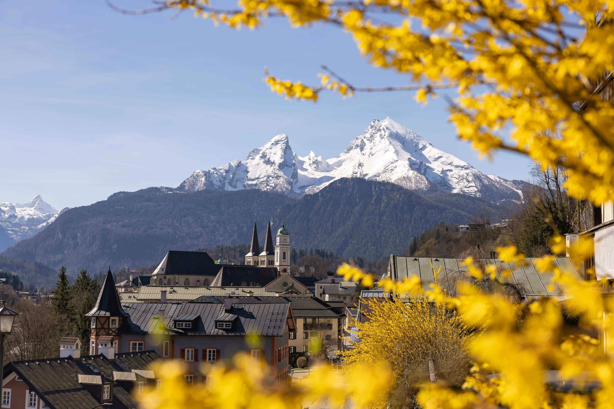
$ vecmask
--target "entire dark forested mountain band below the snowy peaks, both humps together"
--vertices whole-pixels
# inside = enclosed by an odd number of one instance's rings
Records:
[[[266,220],[282,220],[295,248],[327,249],[378,259],[407,249],[413,236],[439,222],[464,223],[491,208],[479,198],[441,193],[435,200],[389,182],[339,179],[313,195],[293,199],[258,189],[194,193],[149,188],[119,192],[90,206],[69,209],[7,257],[64,265],[71,275],[161,261],[169,249],[195,250],[251,240],[257,214],[260,243]]]

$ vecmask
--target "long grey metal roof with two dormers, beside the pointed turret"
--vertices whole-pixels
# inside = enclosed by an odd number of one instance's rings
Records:
[[[290,310],[284,297],[237,297],[233,308],[225,311],[223,297],[208,297],[209,302],[188,303],[128,303],[130,313],[122,333],[169,333],[173,335],[245,335],[281,337]],[[165,310],[165,327],[160,329],[155,316]],[[174,328],[174,321],[185,316],[196,316],[190,330]],[[216,319],[235,320],[232,330],[216,328]]]

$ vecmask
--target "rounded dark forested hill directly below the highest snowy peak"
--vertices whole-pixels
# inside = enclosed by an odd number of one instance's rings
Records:
[[[494,211],[479,198],[453,193],[429,197],[389,182],[351,178],[279,209],[299,247],[329,249],[370,259],[399,254],[414,236],[440,222],[466,223],[474,212]]]

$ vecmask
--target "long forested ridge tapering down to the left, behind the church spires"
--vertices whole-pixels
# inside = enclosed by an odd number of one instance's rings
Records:
[[[82,268],[95,274],[109,265],[152,265],[169,249],[246,243],[251,238],[254,213],[263,227],[268,216],[288,200],[285,195],[259,190],[188,194],[152,187],[119,192],[107,200],[69,209],[4,255],[36,260],[52,268],[64,265],[72,274]]]

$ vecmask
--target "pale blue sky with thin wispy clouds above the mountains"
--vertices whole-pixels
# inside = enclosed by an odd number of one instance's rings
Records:
[[[527,179],[525,158],[498,154],[489,163],[458,141],[441,98],[419,106],[412,93],[331,94],[314,104],[266,88],[265,66],[316,84],[322,63],[354,85],[406,84],[368,66],[338,29],[270,20],[233,31],[173,15],[121,15],[103,0],[0,2],[0,202],[40,193],[61,208],[177,186],[279,133],[299,155],[330,158],[386,116],[481,171]]]

